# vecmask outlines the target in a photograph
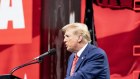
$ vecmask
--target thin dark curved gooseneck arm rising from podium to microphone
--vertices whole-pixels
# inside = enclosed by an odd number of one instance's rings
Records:
[[[12,75],[16,70],[18,70],[18,69],[20,69],[20,68],[23,68],[23,67],[25,67],[25,66],[28,66],[28,65],[31,65],[31,64],[36,64],[36,63],[41,63],[42,62],[42,58],[38,58],[38,59],[33,59],[33,60],[31,60],[31,61],[29,61],[29,62],[27,62],[27,63],[24,63],[24,64],[22,64],[22,65],[20,65],[20,66],[17,66],[17,67],[15,67],[15,68],[13,68],[10,72],[9,72],[9,74],[10,75]]]

